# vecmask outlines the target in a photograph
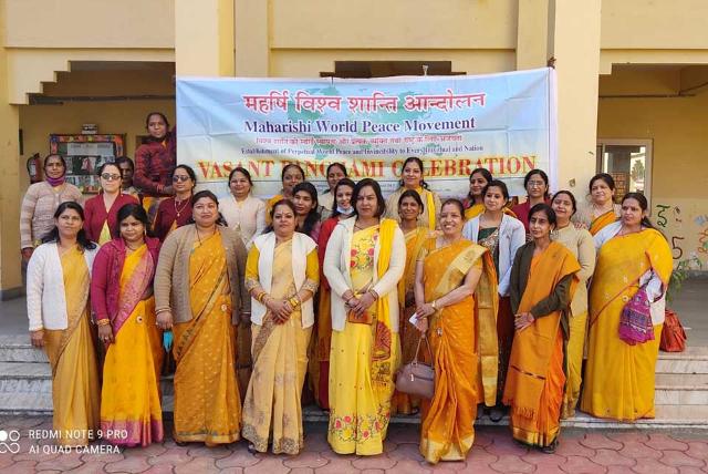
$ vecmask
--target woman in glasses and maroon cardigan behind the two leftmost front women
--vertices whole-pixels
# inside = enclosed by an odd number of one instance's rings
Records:
[[[123,194],[121,168],[115,163],[104,163],[98,168],[101,192],[84,205],[84,230],[88,240],[103,245],[118,236],[118,209],[137,199]]]

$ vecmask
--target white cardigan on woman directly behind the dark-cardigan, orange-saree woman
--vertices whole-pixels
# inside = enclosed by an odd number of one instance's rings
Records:
[[[479,237],[479,218],[475,217],[465,224],[462,236],[473,243]],[[501,224],[499,225],[499,295],[509,296],[509,279],[511,278],[511,266],[517,250],[525,244],[527,231],[521,220],[513,218],[507,214],[501,215]]]

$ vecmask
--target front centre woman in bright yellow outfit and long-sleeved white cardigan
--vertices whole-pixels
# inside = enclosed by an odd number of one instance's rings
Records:
[[[381,454],[399,363],[398,280],[406,246],[398,224],[384,219],[374,179],[356,184],[355,218],[341,221],[324,256],[332,288],[330,426],[339,454]]]

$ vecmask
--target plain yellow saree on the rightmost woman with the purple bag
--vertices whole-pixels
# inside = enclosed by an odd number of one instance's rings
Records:
[[[600,248],[590,288],[590,342],[582,411],[622,421],[654,418],[662,324],[654,327],[653,341],[629,346],[618,337],[620,315],[639,289],[642,275],[652,269],[667,285],[671,267],[668,244],[654,229],[614,237]]]

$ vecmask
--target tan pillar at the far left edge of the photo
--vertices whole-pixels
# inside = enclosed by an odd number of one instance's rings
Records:
[[[20,114],[9,102],[8,54],[4,49],[6,4],[0,1],[0,297],[20,295]]]

